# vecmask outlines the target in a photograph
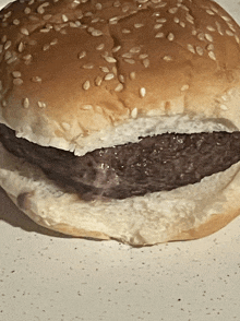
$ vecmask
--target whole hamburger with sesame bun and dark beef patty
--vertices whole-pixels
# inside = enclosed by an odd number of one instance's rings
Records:
[[[0,185],[37,224],[132,246],[240,213],[240,28],[209,0],[0,12]]]

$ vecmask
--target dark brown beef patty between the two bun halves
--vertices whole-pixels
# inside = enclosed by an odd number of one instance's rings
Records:
[[[240,132],[165,133],[84,156],[19,139],[4,124],[0,124],[0,141],[10,153],[39,166],[50,179],[73,187],[87,200],[172,190],[240,160]]]

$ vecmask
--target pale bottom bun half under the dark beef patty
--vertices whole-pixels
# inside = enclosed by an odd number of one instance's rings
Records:
[[[0,144],[0,185],[37,224],[132,246],[197,239],[240,214],[240,163],[201,182],[125,200],[83,201]],[[68,190],[68,191],[67,191]]]

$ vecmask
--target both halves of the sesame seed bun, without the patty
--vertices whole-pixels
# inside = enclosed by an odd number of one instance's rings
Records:
[[[0,23],[0,122],[17,138],[80,156],[240,129],[240,28],[214,1],[16,1]],[[67,234],[141,246],[203,237],[239,214],[239,164],[171,192],[85,202],[1,150],[8,194]]]

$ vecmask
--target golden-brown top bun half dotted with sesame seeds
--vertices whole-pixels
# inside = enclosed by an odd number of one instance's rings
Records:
[[[148,119],[240,129],[240,28],[213,1],[29,0],[0,19],[0,122],[17,136],[82,155]]]

